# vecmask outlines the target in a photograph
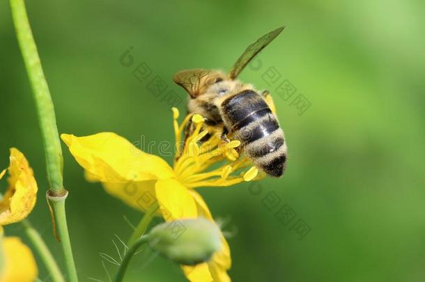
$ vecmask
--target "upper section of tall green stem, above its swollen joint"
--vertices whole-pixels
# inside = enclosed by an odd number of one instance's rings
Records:
[[[38,56],[36,42],[26,15],[24,0],[10,0],[13,23],[17,41],[20,45],[24,58],[26,72],[31,82],[33,97],[36,102],[38,121],[45,146],[45,157],[47,165],[47,178],[50,189],[54,195],[63,195],[62,169],[63,159],[61,142],[56,127],[56,117],[49,86],[42,71],[40,57]]]

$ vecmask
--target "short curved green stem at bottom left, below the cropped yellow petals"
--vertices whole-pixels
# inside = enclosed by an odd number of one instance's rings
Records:
[[[65,282],[61,270],[56,264],[56,260],[54,260],[52,253],[50,253],[49,249],[46,246],[46,243],[44,242],[44,240],[42,240],[42,237],[40,236],[40,234],[38,234],[37,230],[33,228],[31,223],[27,219],[21,221],[21,224],[24,226],[26,236],[29,237],[29,240],[31,240],[33,246],[36,248],[36,251],[38,252],[38,255],[40,256],[42,262],[45,264],[47,271],[49,272],[50,277],[52,278],[52,281]]]

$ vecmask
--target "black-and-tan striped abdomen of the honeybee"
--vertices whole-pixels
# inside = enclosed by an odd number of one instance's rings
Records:
[[[263,97],[242,91],[223,100],[220,112],[229,135],[241,141],[245,155],[265,173],[281,176],[286,167],[284,132]]]

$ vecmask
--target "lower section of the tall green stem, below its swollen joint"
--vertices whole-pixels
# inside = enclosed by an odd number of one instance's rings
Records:
[[[69,281],[77,282],[77,271],[75,269],[74,257],[72,256],[68,225],[66,224],[65,199],[67,196],[68,192],[66,192],[64,196],[47,195],[47,200],[52,206],[54,212],[54,222],[56,222],[56,230],[58,230],[58,235],[62,243],[61,245],[63,249],[63,255],[65,257],[66,269],[68,269]]]

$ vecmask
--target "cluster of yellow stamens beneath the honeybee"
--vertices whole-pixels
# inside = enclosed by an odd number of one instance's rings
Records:
[[[190,124],[190,120],[194,124],[194,128],[188,129],[192,131],[189,131],[189,136],[183,141],[183,148],[176,147],[173,167],[178,180],[183,185],[189,188],[226,187],[264,177],[263,174],[258,173],[255,166],[252,166],[252,162],[247,157],[240,156],[238,152],[241,146],[240,141],[223,141],[221,132],[214,127],[206,126],[204,118],[197,113],[186,116],[181,125],[178,125],[177,118],[178,110],[173,108],[176,144],[181,142],[183,131]],[[208,139],[200,143],[201,140],[206,139],[206,136]],[[221,165],[215,166],[220,162]],[[207,171],[210,167],[214,169]],[[248,167],[249,169],[244,171]]]

